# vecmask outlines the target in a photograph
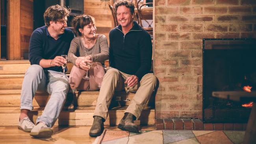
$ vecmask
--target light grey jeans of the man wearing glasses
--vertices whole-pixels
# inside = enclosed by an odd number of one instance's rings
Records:
[[[62,72],[52,70],[44,71],[39,65],[31,65],[22,83],[20,96],[20,109],[32,110],[32,100],[35,93],[48,92],[51,94],[43,114],[37,118],[36,123],[45,122],[52,127],[59,117],[69,91],[69,78]]]

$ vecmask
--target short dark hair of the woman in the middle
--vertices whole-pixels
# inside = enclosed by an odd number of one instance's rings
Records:
[[[79,31],[79,29],[83,29],[84,26],[87,26],[91,23],[95,24],[95,18],[90,15],[79,15],[74,17],[72,23],[74,27],[74,33],[76,35],[82,36],[82,33]]]

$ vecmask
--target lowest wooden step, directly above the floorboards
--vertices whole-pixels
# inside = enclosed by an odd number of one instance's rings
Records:
[[[105,125],[118,125],[124,116],[126,107],[119,107],[109,110],[109,116]],[[43,113],[44,107],[35,107],[30,111],[29,117],[34,123],[37,116]],[[95,107],[77,107],[74,112],[61,111],[55,126],[91,126]],[[0,107],[0,126],[17,126],[19,123],[19,107]],[[140,118],[140,125],[153,125],[155,123],[155,110],[145,107]]]

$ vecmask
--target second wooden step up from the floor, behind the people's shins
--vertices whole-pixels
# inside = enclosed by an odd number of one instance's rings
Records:
[[[2,107],[19,107],[20,105],[20,93],[21,90],[0,90],[0,106]],[[96,106],[99,91],[76,91],[77,105],[78,106]],[[129,92],[128,98],[132,100],[134,93]],[[119,103],[121,106],[127,106],[131,101],[124,102],[126,98],[126,92],[115,92],[111,106],[117,106]],[[33,107],[45,107],[46,103],[50,99],[50,94],[42,93],[35,94],[33,99]],[[67,98],[69,100],[69,98]],[[154,105],[154,96],[150,98],[147,105]]]

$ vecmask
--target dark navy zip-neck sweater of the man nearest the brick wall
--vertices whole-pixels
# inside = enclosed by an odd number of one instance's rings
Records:
[[[147,31],[134,21],[134,26],[125,35],[119,25],[109,33],[109,66],[139,80],[150,72],[152,42]]]

